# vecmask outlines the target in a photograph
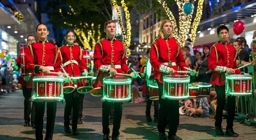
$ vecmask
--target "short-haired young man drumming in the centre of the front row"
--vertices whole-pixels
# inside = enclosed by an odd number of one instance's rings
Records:
[[[96,77],[96,84],[101,85],[103,93],[103,77],[115,76],[117,73],[127,73],[132,77],[137,77],[137,73],[128,68],[126,64],[126,46],[115,38],[116,24],[113,20],[109,20],[104,24],[104,32],[106,37],[96,43],[94,49],[94,67],[99,70]],[[114,120],[112,140],[119,140],[118,135],[121,126],[121,118],[123,112],[123,103],[111,103],[105,101],[102,103],[102,127],[103,140],[109,140],[109,110],[111,104],[114,104]]]

